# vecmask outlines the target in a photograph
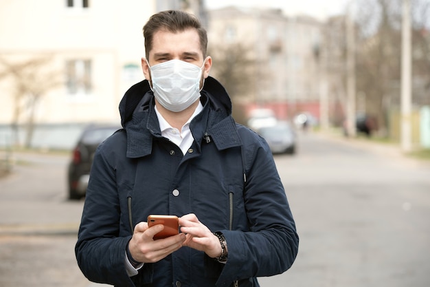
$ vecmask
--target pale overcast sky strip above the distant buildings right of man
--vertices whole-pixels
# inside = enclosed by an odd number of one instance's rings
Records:
[[[308,14],[324,19],[345,11],[348,0],[205,0],[208,9],[225,6],[281,8],[285,14]]]

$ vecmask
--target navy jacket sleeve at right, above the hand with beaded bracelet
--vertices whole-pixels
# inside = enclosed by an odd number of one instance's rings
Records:
[[[217,286],[283,273],[298,252],[295,222],[267,143],[260,137],[243,142],[254,142],[245,144],[244,155],[244,199],[250,232],[222,231],[229,255]]]

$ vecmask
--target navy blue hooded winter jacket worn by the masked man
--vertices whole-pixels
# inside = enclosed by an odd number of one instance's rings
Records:
[[[78,265],[91,281],[259,286],[256,277],[293,264],[299,240],[267,143],[234,123],[231,101],[214,78],[206,79],[201,94],[203,111],[190,123],[194,143],[185,156],[161,136],[148,81],[124,95],[124,129],[95,153],[76,244]],[[225,235],[227,263],[183,247],[128,277],[125,251],[135,224],[150,214],[188,213]]]

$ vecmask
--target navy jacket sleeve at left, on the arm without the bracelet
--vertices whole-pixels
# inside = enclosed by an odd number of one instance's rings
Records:
[[[103,144],[102,144],[103,145]],[[126,244],[119,237],[120,202],[115,169],[99,146],[95,153],[82,212],[75,253],[78,266],[90,281],[115,286],[135,286],[126,272]]]

